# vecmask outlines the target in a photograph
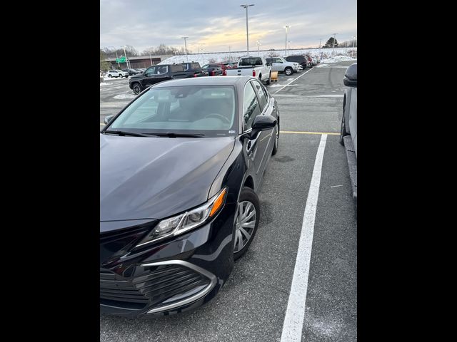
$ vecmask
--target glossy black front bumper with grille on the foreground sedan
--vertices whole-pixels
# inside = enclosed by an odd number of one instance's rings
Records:
[[[235,212],[236,204],[225,204],[209,224],[137,251],[157,222],[101,234],[101,312],[165,316],[212,299],[233,269]]]

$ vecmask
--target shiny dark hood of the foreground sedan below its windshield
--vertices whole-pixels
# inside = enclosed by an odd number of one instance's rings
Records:
[[[161,219],[206,202],[233,137],[100,135],[100,221]]]

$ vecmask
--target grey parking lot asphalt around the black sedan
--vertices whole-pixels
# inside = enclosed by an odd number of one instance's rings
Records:
[[[281,341],[321,140],[321,134],[310,133],[335,134],[327,135],[323,151],[301,340],[294,341],[356,341],[356,210],[345,150],[338,143],[343,75],[351,63],[280,75],[267,87],[278,100],[281,132],[297,133],[280,135],[259,194],[258,232],[219,294],[199,309],[174,316],[101,315],[100,341]],[[128,80],[106,82],[111,84],[100,87],[100,122],[133,95]]]

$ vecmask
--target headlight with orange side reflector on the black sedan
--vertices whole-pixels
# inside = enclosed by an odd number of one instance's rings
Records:
[[[136,247],[156,242],[165,237],[176,236],[187,232],[190,229],[200,226],[216,217],[216,214],[224,207],[227,189],[224,187],[217,195],[211,197],[208,202],[196,209],[189,210],[182,214],[162,219]]]

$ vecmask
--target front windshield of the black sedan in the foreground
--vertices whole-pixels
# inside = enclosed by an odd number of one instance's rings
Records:
[[[107,130],[204,137],[235,135],[236,108],[233,86],[150,88],[113,120]]]

